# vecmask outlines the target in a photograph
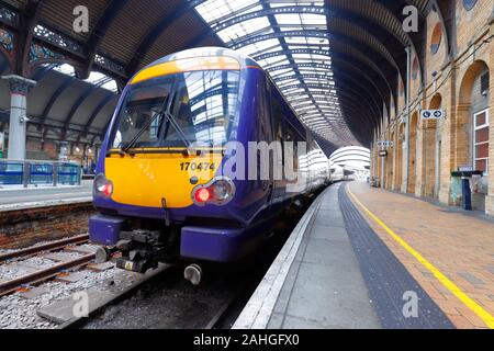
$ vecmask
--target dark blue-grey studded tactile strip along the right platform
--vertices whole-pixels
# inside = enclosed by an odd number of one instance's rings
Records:
[[[372,230],[346,193],[339,189],[339,205],[359,265],[382,327],[385,329],[453,329],[454,326],[420,287],[406,268]],[[418,317],[411,296],[418,297]],[[405,299],[406,298],[406,299]]]

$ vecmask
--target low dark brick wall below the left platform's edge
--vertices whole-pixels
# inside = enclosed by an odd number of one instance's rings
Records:
[[[88,231],[90,202],[0,213],[0,248],[14,249]]]

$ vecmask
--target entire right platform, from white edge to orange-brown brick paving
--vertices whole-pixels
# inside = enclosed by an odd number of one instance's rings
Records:
[[[234,328],[494,328],[494,222],[335,184],[304,215]]]

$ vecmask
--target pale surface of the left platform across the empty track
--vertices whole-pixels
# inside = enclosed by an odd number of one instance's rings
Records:
[[[0,189],[0,211],[30,208],[37,205],[92,201],[92,180],[78,186],[7,188]]]

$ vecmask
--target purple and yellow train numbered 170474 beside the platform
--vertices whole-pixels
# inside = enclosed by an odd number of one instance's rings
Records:
[[[260,150],[244,165],[239,149],[252,143],[282,146],[269,149],[268,178]],[[287,165],[296,179],[273,177]],[[120,252],[116,265],[141,273],[183,262],[193,276],[201,262],[256,252],[283,211],[330,181],[327,157],[269,75],[220,47],[169,55],[128,81],[96,174],[89,231],[99,259]]]

